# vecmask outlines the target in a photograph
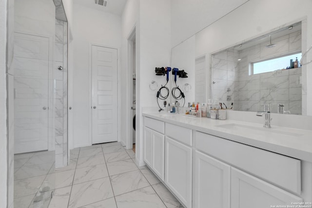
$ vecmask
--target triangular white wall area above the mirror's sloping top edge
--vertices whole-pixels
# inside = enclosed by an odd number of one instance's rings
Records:
[[[190,38],[246,1],[171,0],[172,47]]]

